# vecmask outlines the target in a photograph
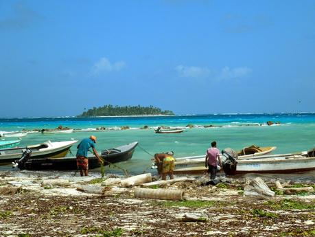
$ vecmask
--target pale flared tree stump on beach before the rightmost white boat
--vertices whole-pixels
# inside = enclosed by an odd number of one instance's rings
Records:
[[[256,177],[244,187],[244,196],[266,199],[275,196],[275,192],[270,190],[263,179]]]

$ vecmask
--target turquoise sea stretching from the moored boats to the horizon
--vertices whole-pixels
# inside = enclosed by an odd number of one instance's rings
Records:
[[[268,126],[266,122],[274,124]],[[183,133],[156,134],[157,126],[186,127]],[[42,134],[36,129],[75,129],[73,133]],[[209,125],[212,125],[211,127]],[[129,129],[121,130],[121,126]],[[141,129],[148,126],[147,129]],[[96,128],[105,127],[104,131]],[[3,118],[0,131],[30,131],[21,137],[21,145],[83,139],[89,135],[97,137],[97,150],[139,142],[139,147],[130,161],[119,163],[130,174],[151,172],[151,155],[167,150],[174,151],[174,157],[205,154],[210,143],[215,140],[220,150],[230,147],[240,150],[244,146],[277,146],[273,153],[292,153],[315,147],[315,113],[273,113],[273,114],[215,114],[215,115],[175,115],[142,117],[40,117]],[[32,132],[31,132],[32,131]],[[9,138],[7,138],[9,139]],[[10,137],[10,139],[15,139]],[[75,155],[75,146],[71,148]],[[150,154],[150,155],[149,155]],[[71,155],[71,154],[69,154]],[[0,166],[0,170],[8,170]],[[107,172],[120,172],[117,168],[106,168]]]

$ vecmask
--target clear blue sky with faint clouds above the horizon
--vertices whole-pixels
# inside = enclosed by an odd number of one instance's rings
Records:
[[[0,0],[0,117],[315,111],[315,1]]]

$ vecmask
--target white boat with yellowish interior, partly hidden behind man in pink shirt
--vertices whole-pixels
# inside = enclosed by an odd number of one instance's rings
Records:
[[[258,148],[258,149],[257,149]],[[266,146],[266,147],[258,147],[258,146],[248,146],[238,151],[237,154],[246,154],[240,155],[238,159],[257,159],[261,157],[261,155],[266,155],[275,150],[276,146]],[[220,154],[220,158],[222,154]],[[175,168],[174,173],[202,173],[207,171],[205,167],[205,155],[197,155],[193,157],[180,157],[175,158]]]

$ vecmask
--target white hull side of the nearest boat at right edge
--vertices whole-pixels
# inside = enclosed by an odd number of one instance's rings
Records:
[[[223,169],[227,175],[305,172],[315,170],[315,157],[295,155],[291,157],[242,160],[236,163],[224,163]]]

